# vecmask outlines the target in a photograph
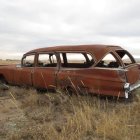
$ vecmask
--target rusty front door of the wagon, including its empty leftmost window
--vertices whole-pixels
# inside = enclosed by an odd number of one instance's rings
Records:
[[[35,54],[25,55],[22,65],[17,67],[14,72],[14,84],[32,86],[32,75],[35,66]]]

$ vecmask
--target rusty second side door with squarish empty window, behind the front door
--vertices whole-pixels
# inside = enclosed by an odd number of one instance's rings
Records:
[[[36,88],[54,89],[57,86],[58,63],[56,53],[38,53],[37,65],[33,74]]]

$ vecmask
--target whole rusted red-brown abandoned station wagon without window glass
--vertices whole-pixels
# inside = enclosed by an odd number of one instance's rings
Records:
[[[119,46],[57,46],[24,54],[21,65],[0,66],[0,79],[36,89],[128,98],[140,86],[140,66]]]

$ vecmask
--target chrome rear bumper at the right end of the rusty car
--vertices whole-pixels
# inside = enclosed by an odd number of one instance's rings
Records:
[[[131,94],[132,91],[140,87],[140,80],[137,81],[135,84],[130,85],[130,83],[126,83],[124,85],[125,89],[125,98],[128,98],[128,95]]]

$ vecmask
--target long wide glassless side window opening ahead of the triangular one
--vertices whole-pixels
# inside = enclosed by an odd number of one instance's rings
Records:
[[[88,53],[61,53],[61,66],[65,68],[88,68],[94,64],[92,56]]]

